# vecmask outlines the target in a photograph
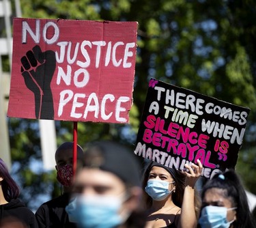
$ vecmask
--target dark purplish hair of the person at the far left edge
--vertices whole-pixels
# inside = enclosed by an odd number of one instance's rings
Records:
[[[0,177],[3,180],[0,182],[3,190],[3,196],[6,201],[10,201],[11,199],[16,199],[18,195],[20,195],[20,188],[16,184],[16,182],[12,179],[10,173],[8,172],[8,168],[5,165],[5,162],[0,158]]]

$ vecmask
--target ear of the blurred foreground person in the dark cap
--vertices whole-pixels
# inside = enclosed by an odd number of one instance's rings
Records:
[[[139,186],[129,189],[128,199],[123,203],[123,208],[130,212],[137,210],[141,205],[142,190]]]

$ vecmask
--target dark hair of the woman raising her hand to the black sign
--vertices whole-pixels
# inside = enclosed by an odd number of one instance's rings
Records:
[[[147,186],[147,180],[148,177],[150,176],[150,171],[152,167],[157,166],[165,169],[168,171],[171,176],[173,177],[173,180],[175,180],[175,193],[173,192],[172,194],[172,200],[175,205],[177,205],[179,208],[182,207],[182,200],[183,200],[183,195],[184,195],[184,188],[185,188],[185,180],[186,176],[184,173],[181,171],[178,171],[176,169],[171,169],[169,167],[165,167],[164,165],[161,165],[158,162],[149,162],[145,168],[144,175],[143,175],[143,182],[142,182],[142,188],[143,188],[143,198],[145,200],[145,206],[146,208],[150,208],[152,206],[152,198],[145,193],[145,186]]]

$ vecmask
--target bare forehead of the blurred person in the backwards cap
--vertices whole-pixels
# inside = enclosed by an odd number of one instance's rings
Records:
[[[125,188],[124,182],[117,175],[94,168],[83,168],[77,173],[74,184],[82,184],[84,186],[111,186],[113,188]]]

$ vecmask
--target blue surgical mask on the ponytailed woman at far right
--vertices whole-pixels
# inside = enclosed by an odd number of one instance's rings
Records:
[[[227,221],[227,211],[235,210],[236,208],[225,208],[217,206],[206,206],[201,211],[199,224],[201,228],[229,228],[233,220]]]

